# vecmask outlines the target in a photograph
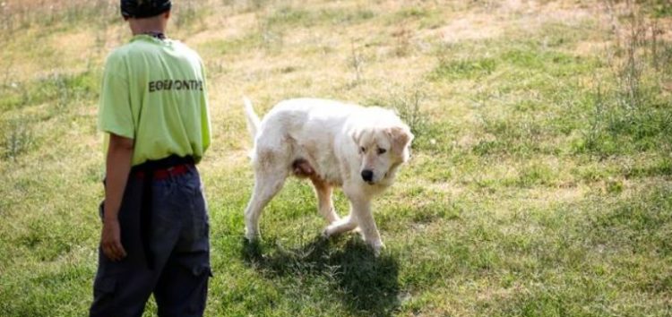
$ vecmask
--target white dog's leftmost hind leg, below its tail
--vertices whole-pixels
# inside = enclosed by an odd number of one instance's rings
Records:
[[[245,210],[245,236],[248,240],[252,241],[259,237],[259,218],[262,216],[263,208],[276,193],[280,192],[287,175],[288,171],[285,168],[257,170],[254,173],[254,193]]]

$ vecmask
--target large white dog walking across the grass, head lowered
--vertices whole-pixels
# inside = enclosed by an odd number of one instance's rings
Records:
[[[413,134],[391,110],[360,107],[325,99],[289,99],[263,117],[245,99],[254,193],[245,211],[246,238],[259,236],[259,218],[289,175],[309,178],[318,210],[329,226],[324,236],[359,228],[367,244],[383,247],[371,213],[371,199],[394,180],[409,159]],[[349,199],[348,217],[333,209],[332,188],[342,186]]]

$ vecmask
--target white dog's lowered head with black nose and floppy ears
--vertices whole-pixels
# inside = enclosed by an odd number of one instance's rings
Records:
[[[410,157],[413,133],[397,116],[392,120],[361,126],[352,134],[358,146],[361,163],[359,173],[368,184],[392,181],[401,163]]]

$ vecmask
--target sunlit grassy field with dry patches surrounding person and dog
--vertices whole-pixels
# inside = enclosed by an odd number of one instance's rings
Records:
[[[90,305],[99,81],[129,39],[116,3],[0,2],[0,316]],[[668,1],[174,4],[168,34],[210,80],[208,316],[672,315]],[[380,257],[320,240],[297,180],[244,244],[243,95],[262,113],[383,105],[411,125],[412,159],[374,204]]]

